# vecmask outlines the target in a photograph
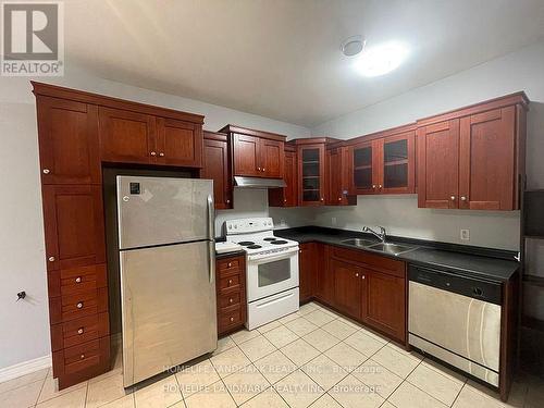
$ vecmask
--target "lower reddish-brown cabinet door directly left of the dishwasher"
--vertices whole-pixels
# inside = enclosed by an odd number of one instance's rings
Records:
[[[374,327],[406,341],[406,280],[363,269],[363,320]]]

